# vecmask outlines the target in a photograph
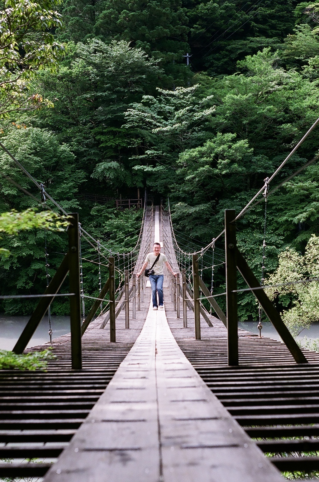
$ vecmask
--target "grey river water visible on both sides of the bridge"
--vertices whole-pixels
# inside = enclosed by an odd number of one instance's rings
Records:
[[[0,349],[13,349],[28,320],[28,316],[8,316],[0,314]],[[257,324],[257,321],[244,321],[239,322],[238,325],[240,328],[258,335]],[[270,321],[263,321],[262,324],[263,329],[261,333],[263,336],[274,338],[275,340],[281,339]],[[65,335],[70,332],[70,318],[68,316],[52,316],[51,327],[53,331],[52,339]],[[48,332],[49,322],[48,317],[45,316],[28,343],[27,348],[50,341]],[[304,330],[298,338],[303,338],[305,335],[308,338],[319,338],[319,323],[313,323],[310,329]]]

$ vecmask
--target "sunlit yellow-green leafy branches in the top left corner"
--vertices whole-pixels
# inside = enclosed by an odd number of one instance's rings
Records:
[[[4,0],[0,5],[0,118],[13,113],[52,106],[38,92],[30,92],[30,81],[43,68],[51,73],[64,53],[51,29],[61,25],[53,10],[60,0]]]

